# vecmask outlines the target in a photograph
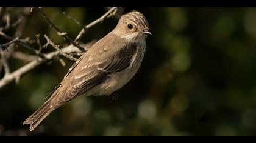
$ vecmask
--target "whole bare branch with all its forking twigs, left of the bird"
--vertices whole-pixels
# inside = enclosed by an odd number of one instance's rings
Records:
[[[48,16],[46,15],[46,13],[44,13],[42,8],[37,8],[37,10],[39,10],[41,12],[41,14],[44,16],[44,18],[46,18],[46,20],[49,22],[49,24],[54,28],[54,30],[58,33],[58,35],[63,36],[64,38],[68,39],[69,42],[71,43],[71,45],[68,45],[65,48],[60,49],[58,47],[58,45],[55,45],[51,39],[48,38],[48,36],[45,36],[45,38],[47,39],[48,43],[51,44],[56,51],[48,53],[48,54],[42,54],[39,53],[39,55],[41,55],[40,57],[37,57],[37,59],[35,59],[34,61],[29,62],[28,64],[24,65],[23,67],[18,68],[18,70],[13,71],[12,73],[4,76],[4,78],[2,78],[0,80],[0,89],[2,87],[4,87],[5,85],[9,84],[12,81],[16,81],[16,83],[19,82],[21,76],[25,75],[26,73],[28,73],[29,71],[33,70],[34,68],[40,66],[41,64],[44,64],[45,62],[49,62],[49,61],[53,61],[56,58],[59,58],[59,56],[64,55],[67,57],[68,54],[72,54],[72,53],[76,53],[77,55],[81,55],[81,51],[85,52],[88,48],[91,47],[91,45],[93,45],[96,41],[92,41],[88,44],[83,45],[82,48],[79,45],[77,45],[77,41],[79,41],[79,39],[82,37],[82,35],[84,35],[85,31],[88,30],[88,28],[93,27],[94,25],[98,24],[99,22],[104,21],[107,18],[110,18],[113,15],[116,15],[118,8],[113,7],[110,8],[110,10],[108,10],[107,13],[105,13],[104,15],[102,15],[99,19],[96,19],[95,21],[91,22],[90,24],[86,25],[79,33],[79,35],[77,35],[75,41],[73,41],[71,38],[69,38],[69,36],[67,35],[66,32],[62,32],[61,30],[59,30],[59,28],[57,28],[48,18]],[[8,35],[5,35],[5,33],[1,32],[0,30],[0,36],[2,36],[5,39],[8,39],[9,41],[13,41],[15,38],[12,38]],[[18,36],[15,36],[18,37]],[[38,50],[35,50],[34,48],[30,47],[29,45],[26,44],[26,42],[21,41],[20,39],[15,40],[15,44],[20,45],[21,47],[25,47],[29,50],[31,50],[34,53],[38,53]],[[77,47],[77,48],[74,48]],[[82,49],[81,49],[82,48]],[[69,55],[68,55],[69,56]],[[60,62],[62,62],[62,60],[60,60]],[[65,65],[65,63],[62,63],[63,65]]]

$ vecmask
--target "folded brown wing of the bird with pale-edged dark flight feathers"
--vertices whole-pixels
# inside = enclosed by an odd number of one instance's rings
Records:
[[[109,55],[104,55],[107,57],[105,60],[102,60],[98,56],[94,59],[82,59],[80,62],[83,66],[80,66],[80,69],[76,70],[77,74],[70,82],[69,89],[64,95],[60,95],[52,102],[53,110],[106,81],[113,73],[129,67],[137,50],[136,45],[125,45],[123,48],[118,49],[115,52],[107,52]],[[98,61],[98,58],[101,61]],[[84,62],[84,60],[87,61]]]

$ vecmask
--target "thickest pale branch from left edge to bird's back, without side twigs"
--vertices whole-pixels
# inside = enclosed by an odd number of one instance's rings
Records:
[[[91,47],[95,41],[89,42],[88,44],[85,44],[85,50]],[[79,49],[74,48],[74,45],[68,45],[65,48],[62,48],[62,51],[65,53],[74,53],[74,52],[80,52]],[[29,71],[33,70],[35,67],[38,67],[39,65],[48,62],[53,61],[55,58],[58,58],[60,56],[59,51],[54,51],[51,53],[48,53],[45,55],[46,58],[40,58],[38,57],[36,60],[29,62],[28,64],[24,65],[23,67],[19,68],[16,71],[13,71],[13,73],[10,73],[9,75],[4,76],[0,80],[0,89],[4,87],[5,85],[9,84],[12,81],[16,81],[16,83],[20,80],[20,77],[28,73]]]

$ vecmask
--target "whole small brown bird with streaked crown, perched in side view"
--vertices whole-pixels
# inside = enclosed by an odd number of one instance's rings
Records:
[[[148,35],[152,34],[143,13],[121,16],[116,27],[77,59],[49,99],[23,124],[30,124],[32,131],[77,96],[109,96],[122,88],[141,66]]]

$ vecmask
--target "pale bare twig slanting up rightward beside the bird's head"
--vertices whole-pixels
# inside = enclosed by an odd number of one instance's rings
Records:
[[[86,25],[76,36],[76,39],[74,41],[79,41],[82,35],[84,35],[85,31],[88,30],[88,28],[93,27],[94,25],[98,24],[99,22],[104,21],[107,18],[110,18],[111,16],[115,15],[114,10],[116,10],[117,7],[110,8],[110,10],[107,11],[104,15],[102,15],[99,19],[96,19],[95,21],[91,22],[90,24]]]

